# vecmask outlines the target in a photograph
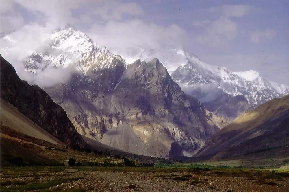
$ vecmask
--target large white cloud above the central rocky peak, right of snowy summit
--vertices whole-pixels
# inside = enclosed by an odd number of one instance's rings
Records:
[[[164,27],[139,19],[93,25],[87,34],[97,44],[105,45],[129,63],[142,54],[157,57],[163,49],[181,47],[186,38],[186,32],[175,24]]]

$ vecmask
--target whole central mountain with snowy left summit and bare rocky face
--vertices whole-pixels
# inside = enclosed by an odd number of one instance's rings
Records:
[[[67,83],[44,90],[81,135],[127,152],[172,157],[193,155],[219,130],[158,59],[127,65],[72,28],[50,37],[49,48],[29,56],[25,67],[34,74],[76,70]]]

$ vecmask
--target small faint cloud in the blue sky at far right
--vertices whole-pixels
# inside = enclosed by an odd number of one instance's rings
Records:
[[[253,43],[260,43],[273,39],[277,35],[277,31],[274,29],[256,30],[249,32],[249,35]]]

